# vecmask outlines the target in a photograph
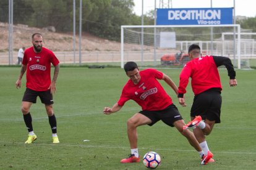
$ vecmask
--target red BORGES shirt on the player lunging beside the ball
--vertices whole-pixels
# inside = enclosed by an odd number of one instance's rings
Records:
[[[163,110],[173,103],[157,80],[163,78],[161,71],[148,68],[139,73],[140,82],[134,84],[131,79],[127,81],[117,102],[118,105],[123,106],[127,100],[132,99],[142,107],[142,110],[152,111]]]

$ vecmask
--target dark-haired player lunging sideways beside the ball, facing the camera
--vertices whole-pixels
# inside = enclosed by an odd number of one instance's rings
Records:
[[[137,147],[137,127],[145,124],[153,126],[160,120],[168,126],[175,126],[202,157],[202,148],[195,139],[194,134],[189,129],[183,129],[185,123],[182,116],[157,79],[164,80],[177,94],[177,86],[173,80],[153,68],[140,71],[135,62],[127,62],[124,65],[124,70],[130,79],[123,87],[120,99],[112,108],[105,107],[103,110],[106,115],[119,111],[124,106],[124,103],[130,99],[142,107],[142,111],[135,113],[134,116],[127,120],[127,135],[131,154],[128,158],[122,159],[121,163],[137,163],[140,161]],[[208,159],[210,160],[210,157]]]

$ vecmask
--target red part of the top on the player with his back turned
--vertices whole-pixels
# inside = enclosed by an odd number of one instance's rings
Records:
[[[189,78],[195,95],[214,87],[222,90],[218,68],[211,55],[190,60],[184,66],[179,75],[179,94],[186,93]]]

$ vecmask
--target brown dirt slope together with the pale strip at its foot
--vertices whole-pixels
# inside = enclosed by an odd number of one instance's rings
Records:
[[[79,62],[79,36],[75,37],[76,57],[74,59],[73,33],[56,33],[47,29],[30,27],[27,25],[13,26],[13,55],[12,63],[16,62],[17,52],[20,47],[28,48],[32,46],[31,36],[33,33],[43,35],[43,46],[51,49],[58,56],[61,63]],[[0,64],[9,63],[9,25],[0,23]],[[124,44],[124,60],[142,60],[142,46],[140,44]],[[108,39],[98,38],[92,34],[83,33],[81,40],[82,62],[120,62],[121,61],[121,43],[109,41]],[[143,46],[143,60],[153,61],[154,47]],[[157,60],[161,55],[168,52],[166,49],[157,49]]]

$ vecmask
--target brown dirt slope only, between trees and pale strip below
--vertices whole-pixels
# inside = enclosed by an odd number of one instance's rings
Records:
[[[20,47],[32,46],[31,36],[33,33],[43,34],[43,46],[52,51],[73,51],[73,33],[54,33],[46,29],[29,27],[27,25],[14,25],[13,29],[13,49],[19,50]],[[9,25],[0,23],[0,52],[8,51]],[[140,46],[130,45],[130,49],[138,50]],[[75,38],[75,49],[79,50],[79,36]],[[83,33],[81,40],[82,51],[120,51],[121,44],[116,41],[98,38],[92,34]]]

